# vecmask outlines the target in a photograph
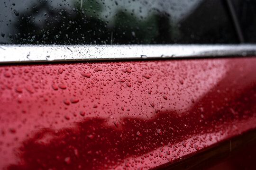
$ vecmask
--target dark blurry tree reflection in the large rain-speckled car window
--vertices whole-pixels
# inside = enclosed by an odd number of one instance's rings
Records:
[[[12,37],[14,43],[130,44],[166,43],[171,40],[169,17],[161,12],[140,20],[119,9],[111,18],[112,24],[108,25],[109,21],[99,16],[104,6],[97,1],[86,1],[81,10],[79,6],[72,11],[65,8],[53,10],[46,1],[32,7],[33,10],[20,13],[16,23],[18,34]],[[38,13],[43,17],[37,18]]]

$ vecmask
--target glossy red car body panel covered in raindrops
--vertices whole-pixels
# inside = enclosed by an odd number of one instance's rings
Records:
[[[256,128],[256,58],[0,67],[0,168],[150,169]]]

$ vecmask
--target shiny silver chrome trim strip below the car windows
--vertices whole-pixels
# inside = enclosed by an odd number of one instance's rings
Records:
[[[0,63],[254,56],[256,44],[237,45],[0,45]]]

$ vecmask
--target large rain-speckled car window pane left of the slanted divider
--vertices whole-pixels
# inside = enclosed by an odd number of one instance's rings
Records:
[[[1,0],[0,43],[236,43],[222,0]]]

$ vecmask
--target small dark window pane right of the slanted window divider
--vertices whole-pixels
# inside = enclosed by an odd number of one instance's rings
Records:
[[[232,0],[246,42],[256,42],[256,0]]]

